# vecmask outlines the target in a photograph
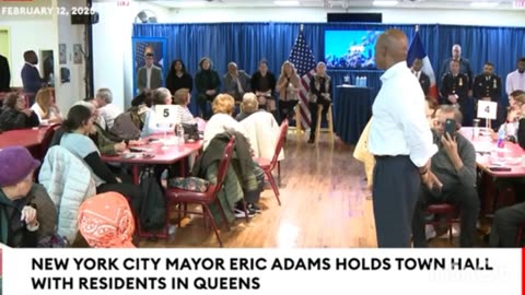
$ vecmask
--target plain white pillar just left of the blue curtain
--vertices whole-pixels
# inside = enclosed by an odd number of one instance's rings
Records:
[[[159,22],[171,22],[168,10],[143,2],[129,2],[118,7],[116,2],[94,2],[100,22],[93,26],[93,74],[95,91],[108,87],[114,104],[127,107],[132,98],[131,33],[135,16],[141,10],[153,11]]]

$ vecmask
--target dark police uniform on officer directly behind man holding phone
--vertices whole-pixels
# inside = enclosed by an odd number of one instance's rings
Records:
[[[464,115],[463,126],[467,122],[466,117],[471,114],[469,110],[468,99],[468,75],[464,73],[458,73],[454,76],[451,72],[443,75],[441,79],[441,88],[440,88],[441,102],[440,104],[451,105],[448,101],[448,95],[455,95],[457,97],[457,104],[459,109]]]

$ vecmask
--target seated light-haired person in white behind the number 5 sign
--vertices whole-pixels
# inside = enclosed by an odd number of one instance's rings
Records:
[[[158,123],[155,118],[156,105],[171,105],[172,94],[167,88],[161,87],[153,91],[153,105],[145,113],[144,127],[142,128],[141,138],[149,137],[155,133],[173,132],[175,122],[173,123]]]

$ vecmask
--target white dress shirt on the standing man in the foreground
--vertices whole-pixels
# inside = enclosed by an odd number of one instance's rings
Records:
[[[369,150],[374,155],[409,155],[422,167],[438,152],[424,114],[424,94],[406,61],[389,68],[372,107]]]

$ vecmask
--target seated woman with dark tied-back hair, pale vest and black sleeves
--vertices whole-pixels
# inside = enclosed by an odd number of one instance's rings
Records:
[[[116,191],[133,202],[140,201],[141,192],[139,187],[124,184],[122,179],[115,176],[107,165],[102,162],[101,152],[89,138],[89,134],[95,128],[93,121],[94,117],[89,108],[80,105],[73,106],[62,125],[66,133],[60,139],[60,146],[85,162],[95,180],[96,193]]]

